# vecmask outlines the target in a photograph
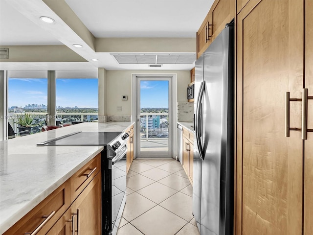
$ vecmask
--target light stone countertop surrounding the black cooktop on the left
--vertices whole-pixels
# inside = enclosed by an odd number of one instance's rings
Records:
[[[20,220],[103,146],[37,146],[76,131],[125,131],[134,122],[85,122],[0,141],[0,234]]]

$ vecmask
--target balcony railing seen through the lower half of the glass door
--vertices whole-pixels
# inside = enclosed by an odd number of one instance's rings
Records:
[[[140,140],[168,141],[168,113],[140,113]]]

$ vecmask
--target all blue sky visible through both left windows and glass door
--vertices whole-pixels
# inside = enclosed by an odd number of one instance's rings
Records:
[[[140,107],[168,109],[168,81],[140,81]],[[8,78],[8,107],[47,107],[47,78]],[[98,108],[98,79],[56,79],[56,108]]]

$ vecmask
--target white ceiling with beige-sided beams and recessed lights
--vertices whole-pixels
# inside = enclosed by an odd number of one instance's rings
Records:
[[[189,64],[175,63],[173,56],[195,58],[196,32],[212,3],[213,0],[0,0],[0,46],[9,48],[10,58],[0,60],[0,69],[190,70],[194,66],[190,59],[182,60]],[[40,16],[51,17],[55,23],[43,23]],[[73,47],[75,43],[83,47]],[[20,59],[15,50],[27,52],[29,61]],[[164,64],[160,68],[150,68],[151,63],[119,64],[114,55],[127,53],[133,57],[138,54],[147,62],[157,55]]]

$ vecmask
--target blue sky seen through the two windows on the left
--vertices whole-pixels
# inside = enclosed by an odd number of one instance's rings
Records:
[[[46,78],[9,78],[8,107],[47,105]],[[98,79],[56,79],[56,106],[98,107]]]

